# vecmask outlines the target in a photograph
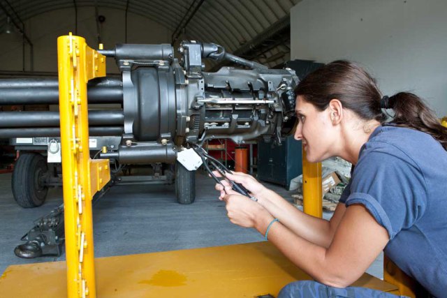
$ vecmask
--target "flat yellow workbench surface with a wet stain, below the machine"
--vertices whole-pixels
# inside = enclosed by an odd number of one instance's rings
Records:
[[[97,297],[276,297],[284,285],[311,279],[269,242],[96,258]],[[1,297],[66,297],[66,262],[13,265]],[[397,287],[363,274],[362,286]]]

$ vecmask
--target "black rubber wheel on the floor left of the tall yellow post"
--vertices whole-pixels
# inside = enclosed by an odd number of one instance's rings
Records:
[[[13,171],[13,196],[15,202],[24,208],[38,207],[45,202],[48,187],[42,177],[48,171],[47,161],[38,153],[20,154]]]

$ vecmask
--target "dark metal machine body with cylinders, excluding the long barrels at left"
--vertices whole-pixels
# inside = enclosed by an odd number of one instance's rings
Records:
[[[228,54],[212,43],[183,42],[181,61],[170,45],[117,45],[99,50],[122,71],[124,134],[120,163],[173,163],[188,144],[228,138],[242,144],[261,135],[277,140],[292,121],[298,77]],[[203,71],[202,59],[229,59],[251,69]]]

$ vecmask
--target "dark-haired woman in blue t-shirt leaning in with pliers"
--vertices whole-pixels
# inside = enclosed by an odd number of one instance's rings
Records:
[[[447,129],[413,94],[382,97],[348,61],[309,74],[295,94],[295,139],[307,160],[340,156],[355,166],[330,221],[304,214],[247,174],[227,177],[258,202],[216,185],[232,223],[256,228],[315,279],[286,285],[279,297],[395,297],[349,287],[381,251],[432,295],[446,295]],[[388,124],[383,108],[395,113]]]

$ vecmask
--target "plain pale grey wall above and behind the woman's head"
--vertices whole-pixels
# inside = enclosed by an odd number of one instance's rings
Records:
[[[412,91],[447,115],[447,1],[304,0],[291,9],[291,59],[356,61],[383,94]]]

